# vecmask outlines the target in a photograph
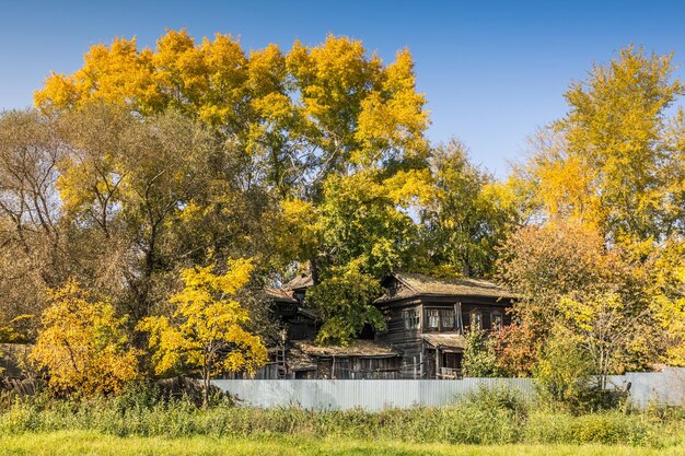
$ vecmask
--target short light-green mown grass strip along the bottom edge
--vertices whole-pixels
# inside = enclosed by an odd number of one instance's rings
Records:
[[[348,439],[116,437],[93,431],[0,436],[2,456],[682,456],[685,442],[664,449],[607,445],[444,445]]]

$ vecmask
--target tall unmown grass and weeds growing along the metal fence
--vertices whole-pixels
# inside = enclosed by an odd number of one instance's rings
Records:
[[[150,389],[88,401],[42,395],[0,400],[0,435],[96,431],[114,436],[344,437],[449,444],[683,443],[685,413],[662,409],[584,416],[547,410],[509,390],[480,389],[441,408],[369,412],[257,409],[216,400],[201,409],[187,398],[164,399]]]

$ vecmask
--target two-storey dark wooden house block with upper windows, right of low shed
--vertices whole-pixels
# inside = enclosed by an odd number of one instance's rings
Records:
[[[499,330],[509,325],[513,296],[492,282],[445,280],[397,272],[382,282],[375,301],[387,329],[376,341],[403,354],[404,378],[461,376],[464,334],[471,328]]]

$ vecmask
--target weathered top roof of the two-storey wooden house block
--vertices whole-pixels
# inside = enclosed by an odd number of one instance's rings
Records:
[[[439,279],[414,272],[395,272],[392,277],[397,279],[404,287],[398,288],[396,291],[386,291],[376,302],[395,301],[420,295],[514,297],[512,293],[487,280],[469,278]],[[386,282],[387,278],[384,280],[384,283]]]

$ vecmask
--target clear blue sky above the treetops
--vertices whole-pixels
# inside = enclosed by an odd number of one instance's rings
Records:
[[[407,46],[431,140],[461,139],[499,176],[526,137],[564,115],[565,90],[593,61],[634,43],[685,62],[685,1],[0,0],[0,108],[28,106],[50,70],[77,70],[93,44],[137,36],[153,46],[165,27],[184,26],[196,39],[239,35],[247,49],[334,33],[388,61]]]

